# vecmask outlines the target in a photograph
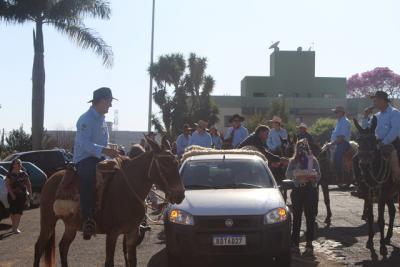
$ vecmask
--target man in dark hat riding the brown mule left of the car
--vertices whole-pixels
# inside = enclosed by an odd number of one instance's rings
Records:
[[[118,150],[108,148],[108,127],[105,114],[112,106],[110,88],[102,87],[93,92],[92,106],[78,120],[74,146],[74,162],[80,177],[80,206],[83,219],[83,238],[89,240],[95,233],[93,220],[96,206],[96,165],[105,156],[115,158]]]

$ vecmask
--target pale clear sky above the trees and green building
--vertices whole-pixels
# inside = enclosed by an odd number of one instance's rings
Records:
[[[73,130],[93,90],[119,99],[118,129],[147,129],[152,0],[113,0],[109,21],[87,19],[112,46],[113,68],[90,50],[45,27],[45,128]],[[269,75],[268,47],[310,46],[316,75],[349,77],[375,67],[400,73],[398,0],[156,0],[154,56],[207,57],[214,94],[240,95],[246,75]],[[0,129],[31,127],[33,24],[0,22]]]

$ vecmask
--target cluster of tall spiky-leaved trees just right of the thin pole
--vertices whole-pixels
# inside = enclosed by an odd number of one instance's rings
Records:
[[[161,110],[161,120],[153,116],[152,124],[174,139],[183,124],[200,119],[212,125],[218,121],[218,107],[210,99],[215,81],[205,75],[207,59],[192,53],[186,60],[182,54],[160,56],[149,67],[153,76],[153,99]]]

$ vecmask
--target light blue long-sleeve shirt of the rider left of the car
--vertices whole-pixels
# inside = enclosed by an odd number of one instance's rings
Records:
[[[102,150],[108,145],[108,127],[104,115],[94,107],[85,112],[76,123],[74,162],[88,157],[102,157]]]

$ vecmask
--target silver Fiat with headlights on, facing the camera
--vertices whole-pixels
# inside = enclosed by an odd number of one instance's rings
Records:
[[[185,199],[164,214],[169,266],[243,256],[290,266],[291,214],[265,160],[249,153],[196,155],[180,174]]]

